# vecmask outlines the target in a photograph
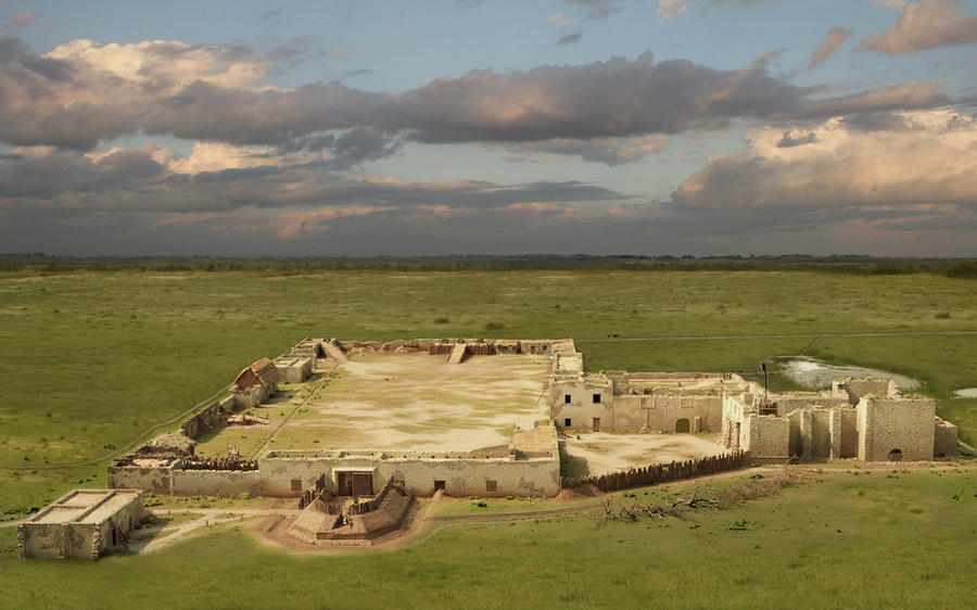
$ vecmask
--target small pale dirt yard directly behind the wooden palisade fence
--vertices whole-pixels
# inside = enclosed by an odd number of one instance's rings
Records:
[[[630,467],[724,453],[720,434],[611,434],[591,432],[564,441],[567,476],[604,474]]]

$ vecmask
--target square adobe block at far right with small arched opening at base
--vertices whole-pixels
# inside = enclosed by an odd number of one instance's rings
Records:
[[[936,403],[931,398],[859,401],[859,459],[886,461],[892,449],[906,461],[929,461],[934,455]]]

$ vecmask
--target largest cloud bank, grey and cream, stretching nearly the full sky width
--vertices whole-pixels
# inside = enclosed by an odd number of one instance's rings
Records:
[[[301,53],[152,41],[62,45],[41,55],[0,38],[0,141],[91,150],[129,135],[234,147],[322,150],[343,132],[397,142],[540,142],[715,129],[738,119],[796,119],[946,105],[941,85],[905,82],[840,98],[771,76],[765,61],[733,71],[685,60],[611,58],[584,65],[473,71],[397,92],[316,82],[263,85]],[[286,60],[287,61],[287,60]],[[351,150],[363,150],[354,148]],[[376,158],[365,155],[364,158]],[[378,153],[379,154],[379,153]]]

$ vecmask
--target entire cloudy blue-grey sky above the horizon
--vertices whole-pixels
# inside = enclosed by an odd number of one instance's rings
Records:
[[[977,256],[977,0],[0,23],[0,252]]]

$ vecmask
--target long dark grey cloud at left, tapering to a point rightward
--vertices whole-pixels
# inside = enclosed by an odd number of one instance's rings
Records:
[[[361,156],[382,142],[352,132],[350,156]],[[353,150],[361,147],[361,150]],[[366,151],[366,153],[364,152]],[[529,182],[495,185],[459,180],[406,182],[347,177],[330,170],[329,161],[175,174],[154,161],[154,150],[118,150],[103,155],[54,151],[43,155],[0,157],[0,214],[60,214],[60,209],[129,212],[213,212],[259,207],[346,205],[445,205],[497,207],[515,203],[579,202],[622,199],[595,185]],[[343,153],[341,153],[343,154]],[[77,195],[98,195],[84,196]],[[47,203],[45,203],[47,202]]]

